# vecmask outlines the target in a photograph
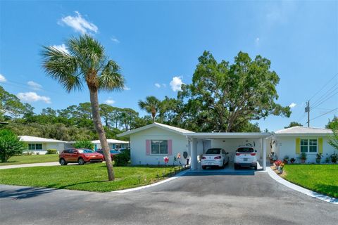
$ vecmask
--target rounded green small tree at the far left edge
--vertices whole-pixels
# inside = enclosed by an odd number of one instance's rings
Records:
[[[13,155],[20,155],[25,149],[25,143],[9,129],[0,130],[0,160],[7,162]]]

